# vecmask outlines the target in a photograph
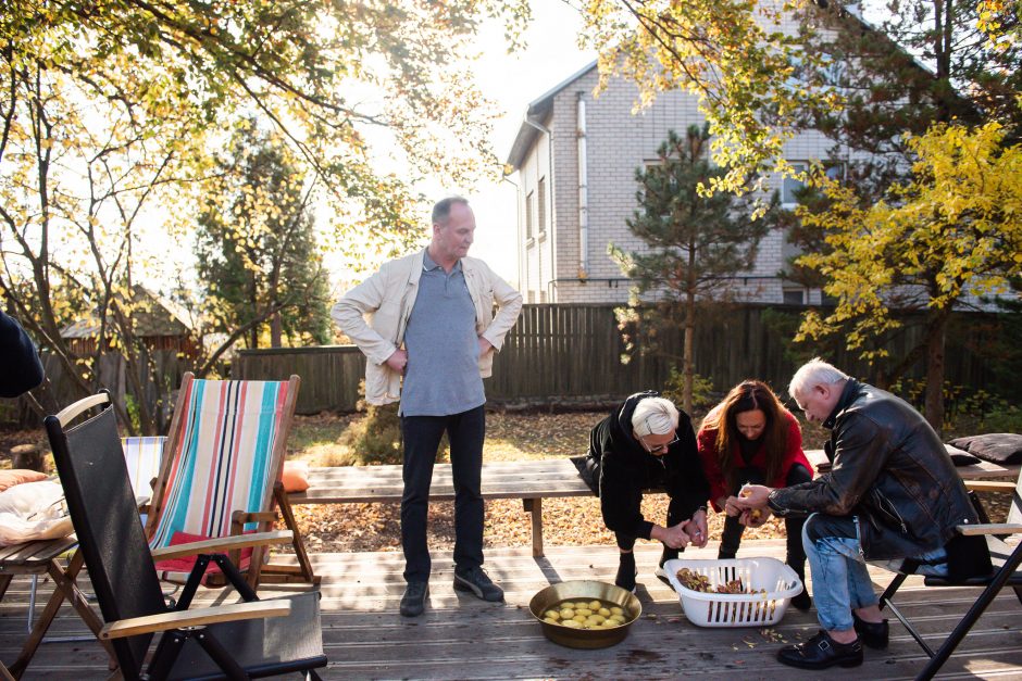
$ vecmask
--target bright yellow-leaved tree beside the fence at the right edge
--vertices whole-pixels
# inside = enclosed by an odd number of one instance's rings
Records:
[[[887,371],[890,380],[925,357],[930,384],[944,382],[943,346],[951,311],[968,297],[1007,292],[1022,275],[1022,150],[992,123],[970,130],[937,125],[907,141],[917,155],[910,180],[893,185],[886,201],[818,178],[828,211],[797,213],[825,235],[827,250],[798,264],[827,279],[837,301],[828,314],[809,311],[796,340],[840,335],[873,363],[887,357],[884,339],[902,323],[896,312],[925,312],[926,333]],[[939,391],[926,418],[943,420]]]

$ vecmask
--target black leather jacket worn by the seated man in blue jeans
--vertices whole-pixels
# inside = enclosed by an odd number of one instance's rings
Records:
[[[823,426],[831,471],[772,492],[774,510],[858,516],[868,559],[918,556],[979,522],[944,443],[901,399],[849,379]]]

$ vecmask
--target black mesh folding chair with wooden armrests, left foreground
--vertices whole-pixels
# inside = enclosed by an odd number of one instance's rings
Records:
[[[326,666],[320,594],[260,601],[226,557],[234,542],[173,546],[160,557],[199,555],[176,606],[163,593],[135,504],[110,399],[99,393],[45,420],[67,508],[104,627],[125,679],[245,679],[297,672],[319,679]],[[73,427],[92,407],[100,412]],[[289,532],[257,537],[261,545]],[[241,543],[253,535],[233,538]],[[229,544],[229,545],[227,545]],[[184,554],[182,553],[184,552]],[[205,567],[215,562],[244,603],[188,609]],[[144,672],[153,634],[161,636]]]

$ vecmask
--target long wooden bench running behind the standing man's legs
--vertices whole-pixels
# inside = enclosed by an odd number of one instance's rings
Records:
[[[401,466],[335,466],[311,468],[309,489],[288,494],[294,504],[400,502],[404,482]],[[532,514],[533,555],[543,556],[543,500],[593,496],[569,458],[483,464],[484,500],[521,499]],[[450,464],[433,468],[429,501],[453,501]]]

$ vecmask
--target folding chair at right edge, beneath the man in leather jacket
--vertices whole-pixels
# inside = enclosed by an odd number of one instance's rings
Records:
[[[1022,570],[1019,569],[1020,564],[1022,564],[1022,542],[1009,544],[1005,541],[1005,538],[1008,535],[1022,534],[1022,475],[1019,476],[1018,482],[1013,485],[1011,482],[965,480],[965,487],[971,491],[970,495],[980,514],[981,525],[961,525],[957,529],[961,537],[984,537],[986,539],[986,545],[990,552],[993,570],[988,575],[964,580],[932,576],[927,576],[923,580],[926,587],[982,588],[975,602],[955,627],[955,630],[948,634],[948,638],[940,647],[934,652],[917,631],[915,627],[913,627],[908,618],[895,606],[893,602],[895,593],[897,593],[898,588],[912,573],[910,570],[899,572],[880,598],[881,608],[888,607],[892,614],[897,617],[908,632],[912,634],[915,642],[925,651],[926,655],[930,656],[930,661],[920,674],[915,677],[917,679],[932,679],[934,674],[939,671],[940,667],[943,667],[944,663],[955,653],[955,648],[957,648],[958,644],[968,635],[973,625],[976,623],[980,616],[983,615],[984,610],[994,602],[994,598],[997,597],[1001,589],[1005,587],[1012,588],[1019,602],[1022,603]],[[986,512],[974,494],[976,491],[1012,493],[1011,508],[1008,513],[1007,522],[989,522]]]

